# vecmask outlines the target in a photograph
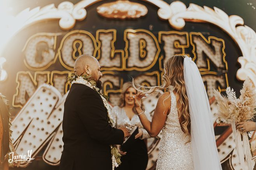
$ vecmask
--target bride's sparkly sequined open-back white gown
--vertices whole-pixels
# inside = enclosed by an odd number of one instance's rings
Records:
[[[171,92],[171,109],[163,127],[156,170],[194,170],[191,142],[181,130],[176,97]]]

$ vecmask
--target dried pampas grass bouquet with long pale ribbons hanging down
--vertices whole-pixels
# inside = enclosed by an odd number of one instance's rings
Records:
[[[233,88],[226,88],[226,96],[214,90],[214,96],[217,100],[219,110],[217,113],[217,121],[231,124],[240,163],[242,167],[245,167],[245,163],[247,163],[247,167],[253,169],[251,148],[247,132],[241,133],[236,130],[236,123],[251,120],[256,114],[256,90],[249,78],[245,80],[240,93],[240,97],[237,98]]]

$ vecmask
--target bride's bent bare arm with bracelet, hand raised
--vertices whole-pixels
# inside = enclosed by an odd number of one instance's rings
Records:
[[[141,98],[144,96],[144,94],[139,93],[134,98],[134,104],[137,114],[142,113]],[[145,114],[139,115],[141,124],[143,125],[144,129],[147,130],[151,137],[156,137],[162,130],[163,126],[165,125],[167,114],[170,112],[170,106],[170,93],[165,92],[158,99],[152,122],[147,119],[147,116]]]

